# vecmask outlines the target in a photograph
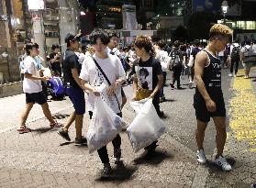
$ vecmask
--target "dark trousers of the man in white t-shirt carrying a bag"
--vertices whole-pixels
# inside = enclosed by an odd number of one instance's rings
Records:
[[[93,112],[92,111],[89,111],[89,116],[90,116],[90,119],[92,119],[92,117],[93,117]],[[122,114],[118,113],[117,116],[122,116]],[[117,134],[117,137],[112,140],[112,144],[113,144],[114,149],[119,149],[120,148],[120,146],[121,146],[121,137],[120,137],[119,134]],[[104,163],[104,164],[109,163],[109,158],[108,158],[106,146],[98,149],[97,152],[98,152],[98,155],[99,155],[100,160],[102,161],[102,163]]]

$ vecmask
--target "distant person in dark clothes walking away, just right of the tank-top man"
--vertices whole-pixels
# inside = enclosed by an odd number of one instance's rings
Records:
[[[235,65],[235,75],[234,77],[237,76],[238,70],[239,70],[239,53],[240,53],[240,46],[237,41],[235,41],[231,46],[230,46],[230,61],[231,61],[231,66],[230,66],[230,73],[228,74],[229,77],[233,76],[233,69]]]

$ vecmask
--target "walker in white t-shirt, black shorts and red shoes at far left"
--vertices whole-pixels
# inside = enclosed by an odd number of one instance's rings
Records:
[[[47,82],[49,78],[39,75],[39,69],[34,59],[38,55],[37,48],[34,44],[27,44],[25,50],[28,55],[24,60],[23,81],[23,92],[26,94],[26,106],[24,112],[21,114],[17,132],[23,134],[31,131],[25,124],[28,114],[35,103],[41,105],[44,115],[50,121],[50,127],[61,127],[61,124],[57,123],[51,116],[46,97],[42,93],[41,81]]]

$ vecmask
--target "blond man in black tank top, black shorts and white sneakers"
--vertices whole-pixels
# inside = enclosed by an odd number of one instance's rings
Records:
[[[195,58],[195,95],[194,107],[197,120],[195,133],[197,143],[197,161],[206,163],[206,154],[203,147],[205,130],[210,117],[213,118],[217,136],[217,156],[215,162],[224,171],[231,171],[231,166],[222,156],[225,146],[226,132],[226,108],[221,90],[221,63],[217,58],[217,52],[224,50],[228,38],[232,36],[232,30],[227,26],[215,24],[209,33],[209,44],[201,50]]]

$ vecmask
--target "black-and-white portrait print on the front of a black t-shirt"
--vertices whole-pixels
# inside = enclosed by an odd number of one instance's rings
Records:
[[[153,69],[152,67],[135,67],[136,75],[138,78],[139,87],[147,90],[152,90],[152,81],[153,81]]]

